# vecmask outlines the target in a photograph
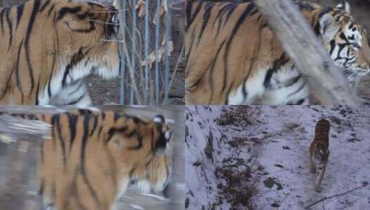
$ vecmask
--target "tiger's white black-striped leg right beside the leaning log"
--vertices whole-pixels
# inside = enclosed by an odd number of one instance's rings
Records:
[[[263,104],[269,105],[308,105],[309,86],[306,79],[294,69],[281,69],[273,73],[265,83]]]

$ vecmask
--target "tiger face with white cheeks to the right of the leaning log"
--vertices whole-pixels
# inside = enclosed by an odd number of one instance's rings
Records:
[[[344,68],[343,75],[349,82],[354,84],[370,72],[367,32],[351,17],[347,1],[322,9],[315,30],[335,64]]]

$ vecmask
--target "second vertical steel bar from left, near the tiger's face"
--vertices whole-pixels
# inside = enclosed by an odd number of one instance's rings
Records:
[[[131,68],[133,72],[136,70],[136,0],[131,1],[131,10],[132,10],[132,44],[131,44]],[[134,75],[131,75],[131,95],[130,95],[130,104],[134,104],[134,97],[135,97],[135,91],[134,91],[134,85],[135,83],[135,77]]]

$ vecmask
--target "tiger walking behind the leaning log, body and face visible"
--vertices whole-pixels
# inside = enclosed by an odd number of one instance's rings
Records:
[[[352,86],[370,72],[367,32],[350,6],[295,1]],[[187,104],[310,104],[310,88],[254,1],[188,0],[185,26]]]

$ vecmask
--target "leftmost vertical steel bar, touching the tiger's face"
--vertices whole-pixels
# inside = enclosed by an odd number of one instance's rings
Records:
[[[122,36],[122,43],[120,48],[120,75],[121,75],[121,81],[120,81],[120,104],[124,104],[125,99],[125,88],[124,88],[124,74],[126,72],[126,57],[124,53],[124,44],[126,44],[126,10],[127,10],[127,0],[120,0],[120,32]]]

